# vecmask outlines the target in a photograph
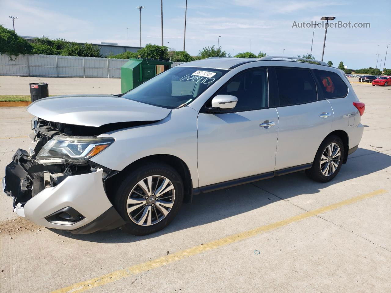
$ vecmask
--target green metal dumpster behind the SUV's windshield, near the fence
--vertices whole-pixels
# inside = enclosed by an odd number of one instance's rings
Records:
[[[171,68],[172,62],[160,59],[131,58],[121,67],[121,92],[139,86],[144,81]]]

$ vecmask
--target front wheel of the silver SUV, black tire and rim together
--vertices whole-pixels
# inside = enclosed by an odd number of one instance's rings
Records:
[[[122,226],[142,236],[165,228],[183,202],[183,182],[178,172],[164,163],[149,163],[122,177],[114,205],[125,220]]]

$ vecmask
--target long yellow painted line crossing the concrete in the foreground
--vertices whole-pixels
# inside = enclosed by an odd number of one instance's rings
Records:
[[[92,289],[92,288],[95,288],[98,286],[103,286],[103,285],[109,284],[111,282],[114,282],[116,280],[129,277],[131,275],[146,272],[147,270],[152,270],[154,268],[158,268],[158,267],[164,266],[166,264],[174,263],[176,261],[180,261],[181,259],[185,259],[185,258],[190,257],[192,255],[200,254],[200,253],[207,251],[207,250],[212,250],[212,249],[215,249],[218,247],[226,246],[231,243],[235,243],[237,241],[248,239],[248,238],[251,238],[255,235],[259,235],[259,234],[283,227],[285,225],[288,225],[288,224],[291,224],[294,222],[299,222],[301,220],[310,218],[312,216],[316,216],[317,214],[326,213],[328,211],[332,211],[332,210],[337,209],[339,207],[343,207],[345,205],[350,205],[350,204],[353,204],[353,203],[358,202],[360,200],[363,200],[363,199],[366,199],[369,197],[374,197],[376,195],[380,195],[380,194],[387,193],[387,192],[388,192],[387,190],[379,189],[376,191],[372,191],[370,193],[359,195],[357,197],[352,197],[347,200],[343,200],[342,202],[337,202],[335,204],[327,205],[325,207],[321,207],[321,208],[315,209],[313,211],[308,211],[306,213],[298,214],[297,216],[293,216],[291,218],[287,218],[287,219],[284,219],[284,220],[281,220],[278,222],[274,222],[271,224],[267,224],[267,225],[252,229],[252,230],[240,232],[238,234],[234,234],[234,235],[227,236],[227,237],[224,237],[221,239],[217,239],[215,241],[205,243],[204,245],[198,245],[198,246],[195,246],[192,248],[188,248],[188,249],[185,249],[182,251],[175,252],[174,254],[165,255],[165,256],[160,257],[158,259],[154,259],[152,261],[147,261],[145,263],[136,264],[136,265],[131,266],[129,268],[125,268],[123,270],[118,270],[118,271],[115,271],[112,273],[108,273],[106,275],[102,275],[102,276],[94,278],[94,279],[85,280],[83,282],[76,283],[76,284],[70,285],[65,288],[57,289],[55,291],[52,291],[52,293],[70,293],[70,292],[78,293],[78,292],[83,292],[83,291],[86,291],[86,290],[89,290],[89,289]]]

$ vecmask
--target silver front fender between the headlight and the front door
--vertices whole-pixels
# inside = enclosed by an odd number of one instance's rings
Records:
[[[173,155],[187,164],[193,185],[198,187],[197,115],[185,106],[156,123],[101,134],[99,137],[113,137],[115,142],[91,161],[121,171],[143,157]]]

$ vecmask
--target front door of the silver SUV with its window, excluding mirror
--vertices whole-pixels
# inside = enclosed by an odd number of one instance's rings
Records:
[[[273,172],[278,116],[274,107],[269,108],[267,69],[238,73],[218,94],[236,96],[238,102],[228,113],[201,109],[198,115],[199,186]],[[206,107],[211,106],[208,103]],[[274,125],[260,126],[266,121]]]

